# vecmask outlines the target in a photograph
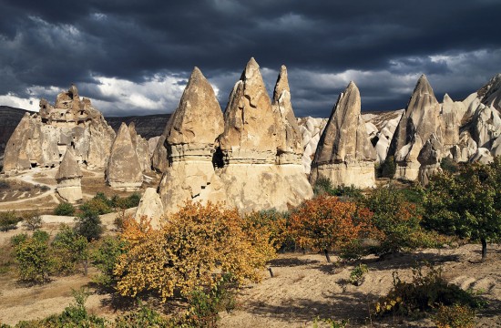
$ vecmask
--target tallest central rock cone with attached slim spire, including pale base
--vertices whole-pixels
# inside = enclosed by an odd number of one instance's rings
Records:
[[[259,65],[251,58],[224,113],[220,178],[227,203],[242,211],[287,210],[312,197],[312,187],[299,162],[299,135],[292,121],[284,73],[283,69],[272,106]],[[281,158],[282,154],[286,156]]]

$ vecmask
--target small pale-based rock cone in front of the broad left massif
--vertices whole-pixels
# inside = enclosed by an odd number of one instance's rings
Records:
[[[56,173],[57,193],[70,203],[75,203],[82,199],[81,179],[82,171],[78,166],[77,159],[73,154],[73,149],[67,149]]]

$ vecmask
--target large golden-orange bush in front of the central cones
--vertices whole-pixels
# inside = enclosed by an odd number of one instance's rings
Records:
[[[187,203],[158,231],[126,224],[123,236],[134,242],[115,269],[118,292],[158,292],[165,302],[174,290],[187,296],[211,288],[222,274],[239,284],[259,282],[266,262],[275,256],[269,232],[246,224],[237,210],[221,208]]]

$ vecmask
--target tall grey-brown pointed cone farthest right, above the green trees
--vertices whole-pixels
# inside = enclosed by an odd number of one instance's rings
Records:
[[[396,162],[395,178],[415,180],[419,175],[417,159],[424,143],[435,133],[441,135],[440,104],[428,80],[422,75],[405,108],[388,152]]]

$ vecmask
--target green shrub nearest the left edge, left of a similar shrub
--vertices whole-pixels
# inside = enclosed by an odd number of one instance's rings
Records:
[[[25,282],[46,282],[53,271],[54,261],[48,250],[48,234],[35,231],[32,237],[26,234],[11,239],[15,260],[19,264],[19,278]]]

